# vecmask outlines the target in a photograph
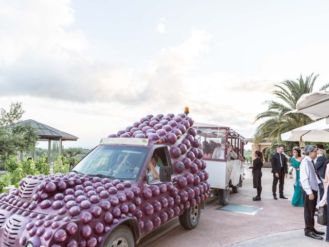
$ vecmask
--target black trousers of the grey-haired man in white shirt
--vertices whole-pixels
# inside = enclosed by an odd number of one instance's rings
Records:
[[[308,199],[308,195],[305,190],[303,190],[303,199],[304,199],[304,221],[305,221],[305,232],[314,230],[314,214],[315,206],[317,205],[318,200],[318,191],[312,189],[314,199],[311,201]]]

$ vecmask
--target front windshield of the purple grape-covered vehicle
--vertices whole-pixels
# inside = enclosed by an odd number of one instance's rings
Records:
[[[72,171],[121,180],[136,179],[147,153],[145,147],[98,146]]]

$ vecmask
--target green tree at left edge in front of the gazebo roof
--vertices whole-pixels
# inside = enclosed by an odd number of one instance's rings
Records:
[[[39,136],[31,125],[17,125],[25,111],[22,103],[11,103],[9,111],[0,109],[0,161],[5,162],[17,151],[31,151]]]

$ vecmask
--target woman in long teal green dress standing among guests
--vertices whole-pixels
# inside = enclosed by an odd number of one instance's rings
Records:
[[[296,171],[296,179],[294,183],[294,196],[291,200],[291,204],[297,207],[303,207],[303,194],[302,194],[302,188],[299,186],[299,166],[302,162],[303,158],[301,157],[301,150],[299,147],[293,148],[293,157],[290,159],[291,165],[293,165],[295,171]]]

